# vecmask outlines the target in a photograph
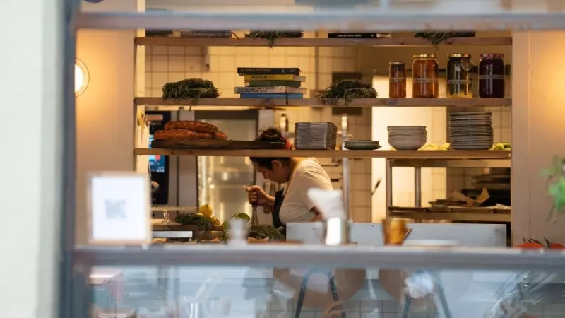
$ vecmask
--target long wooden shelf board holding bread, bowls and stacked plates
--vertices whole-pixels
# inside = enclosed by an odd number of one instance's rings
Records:
[[[318,158],[420,158],[508,159],[509,151],[339,151],[339,150],[216,150],[216,149],[158,149],[136,148],[136,155],[187,155],[210,157],[318,157]]]

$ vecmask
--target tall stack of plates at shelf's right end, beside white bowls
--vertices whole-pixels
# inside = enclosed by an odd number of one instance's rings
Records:
[[[488,150],[492,147],[492,112],[449,114],[449,140],[455,150]]]

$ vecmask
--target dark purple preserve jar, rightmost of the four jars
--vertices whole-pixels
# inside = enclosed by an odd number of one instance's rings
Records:
[[[504,98],[504,54],[481,54],[479,96],[482,98]]]

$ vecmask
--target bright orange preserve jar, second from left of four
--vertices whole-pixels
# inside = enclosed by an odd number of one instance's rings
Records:
[[[412,63],[412,98],[437,98],[438,85],[436,54],[415,54]]]

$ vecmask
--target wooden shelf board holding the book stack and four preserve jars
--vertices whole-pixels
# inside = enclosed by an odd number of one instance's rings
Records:
[[[192,100],[163,100],[162,98],[146,97],[135,98],[136,105],[152,106],[191,106]],[[430,107],[430,106],[510,106],[511,98],[357,98],[349,104],[345,100],[338,100],[335,105],[326,105],[319,98],[200,98],[196,105],[202,106],[258,106],[258,107],[378,107],[378,106],[407,106],[407,107]]]

